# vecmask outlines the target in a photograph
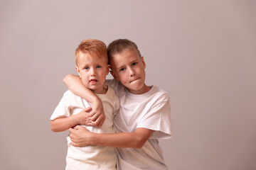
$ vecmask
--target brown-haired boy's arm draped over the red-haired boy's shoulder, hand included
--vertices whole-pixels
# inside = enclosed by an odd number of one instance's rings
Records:
[[[92,103],[92,111],[90,112],[92,125],[101,127],[105,121],[105,113],[100,98],[98,98],[90,89],[87,89],[78,76],[68,74],[63,79],[63,82],[73,94],[85,98],[86,101]]]

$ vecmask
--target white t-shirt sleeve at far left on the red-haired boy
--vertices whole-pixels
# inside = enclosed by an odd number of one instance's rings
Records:
[[[53,111],[53,115],[51,115],[50,120],[66,118],[68,116],[70,116],[70,111],[68,107],[68,91],[66,91],[63,98],[61,98],[60,103],[58,103],[58,106]]]

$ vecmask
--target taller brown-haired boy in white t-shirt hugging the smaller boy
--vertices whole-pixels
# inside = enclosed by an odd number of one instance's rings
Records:
[[[145,84],[146,64],[134,42],[115,40],[107,52],[114,80],[106,82],[120,100],[119,113],[114,117],[117,133],[96,134],[78,125],[70,128],[72,145],[117,147],[117,169],[168,169],[158,141],[171,137],[168,94],[157,86]],[[68,75],[63,81],[78,96],[92,100],[93,94],[82,86],[78,77]]]

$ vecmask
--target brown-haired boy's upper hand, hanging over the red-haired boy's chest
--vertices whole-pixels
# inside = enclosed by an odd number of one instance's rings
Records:
[[[92,111],[90,113],[92,124],[96,126],[97,128],[100,128],[106,117],[102,106],[102,101],[97,98],[94,102],[92,102]]]

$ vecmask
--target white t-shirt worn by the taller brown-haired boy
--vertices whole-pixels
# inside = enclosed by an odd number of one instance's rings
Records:
[[[134,132],[136,128],[154,130],[140,149],[117,148],[117,169],[168,169],[164,163],[159,140],[171,137],[171,107],[169,95],[157,86],[145,94],[131,94],[118,81],[106,83],[116,91],[120,100],[119,113],[114,117],[116,132]]]

